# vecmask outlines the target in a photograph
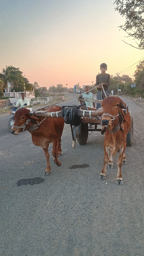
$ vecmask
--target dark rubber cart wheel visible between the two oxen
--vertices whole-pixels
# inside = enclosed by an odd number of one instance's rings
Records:
[[[81,123],[76,126],[76,139],[80,145],[86,144],[88,138],[88,124]]]

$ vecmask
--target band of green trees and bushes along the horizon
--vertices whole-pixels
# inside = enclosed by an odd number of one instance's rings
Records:
[[[31,91],[35,90],[35,97],[49,97],[54,95],[54,92],[64,93],[64,92],[73,92],[74,88],[64,87],[62,84],[57,84],[56,86],[52,85],[48,89],[46,86],[40,87],[37,82],[34,84],[30,84],[28,78],[22,75],[22,71],[19,68],[15,68],[12,66],[6,67],[6,69],[2,70],[0,73],[0,97],[3,98],[4,89],[9,82],[11,84],[11,91],[13,92],[23,92],[24,86],[25,90]],[[117,83],[118,89],[121,89],[121,93],[119,95],[127,95],[134,96],[135,98],[144,98],[144,60],[140,61],[139,65],[137,65],[137,69],[134,72],[133,78],[128,75],[122,76],[111,76],[111,82],[109,86],[109,92],[114,90],[114,94],[117,94]],[[135,88],[131,88],[131,84],[136,84]],[[78,85],[77,85],[78,86]],[[95,84],[89,84],[90,89],[95,87]],[[82,88],[78,87],[80,91],[83,92]],[[93,94],[97,93],[96,89],[92,90]]]

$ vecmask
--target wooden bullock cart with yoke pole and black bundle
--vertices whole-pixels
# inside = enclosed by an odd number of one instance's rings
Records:
[[[84,109],[85,108],[85,109]],[[128,107],[127,107],[128,109]],[[126,115],[127,109],[123,109]],[[76,111],[76,112],[75,112]],[[104,132],[97,128],[101,124],[102,108],[86,107],[85,102],[79,106],[62,106],[62,110],[58,112],[35,111],[33,115],[37,117],[64,117],[66,124],[70,124],[72,133],[72,148],[76,148],[76,140],[80,145],[85,145],[88,139],[88,132]],[[75,120],[75,117],[79,120]],[[88,124],[94,125],[93,129],[88,127]],[[127,134],[126,146],[132,146],[133,143],[133,119],[131,117],[131,127]]]

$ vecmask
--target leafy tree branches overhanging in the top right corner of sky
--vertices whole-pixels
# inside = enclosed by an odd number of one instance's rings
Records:
[[[137,49],[144,49],[144,1],[143,0],[116,0],[115,10],[125,17],[125,24],[119,26],[128,36],[136,40]],[[125,42],[126,43],[126,42]],[[127,44],[127,43],[126,43]]]

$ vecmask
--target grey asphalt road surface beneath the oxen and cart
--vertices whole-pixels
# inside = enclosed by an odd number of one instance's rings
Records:
[[[52,163],[50,146],[51,175],[43,176],[43,149],[27,131],[12,135],[9,114],[0,116],[1,256],[144,255],[144,108],[122,99],[134,123],[133,146],[126,148],[127,165],[122,166],[123,186],[115,184],[117,157],[107,179],[98,179],[104,156],[100,132],[89,132],[87,144],[76,143],[72,149],[65,124],[62,164]],[[76,99],[66,102],[73,104]]]

